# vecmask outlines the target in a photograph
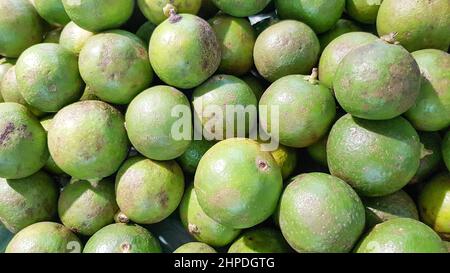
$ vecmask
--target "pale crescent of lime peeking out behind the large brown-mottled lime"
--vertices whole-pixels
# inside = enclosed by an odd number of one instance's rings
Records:
[[[352,32],[343,34],[331,41],[320,56],[320,82],[325,86],[332,88],[336,70],[342,59],[353,49],[372,43],[376,39],[377,36],[367,32]]]

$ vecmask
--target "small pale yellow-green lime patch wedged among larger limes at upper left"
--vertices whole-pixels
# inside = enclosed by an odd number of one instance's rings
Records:
[[[68,23],[62,30],[59,37],[59,44],[73,54],[80,54],[86,41],[95,33],[79,27],[74,22]]]

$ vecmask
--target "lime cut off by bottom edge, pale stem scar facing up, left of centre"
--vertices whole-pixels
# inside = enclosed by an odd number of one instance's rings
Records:
[[[161,245],[148,230],[138,225],[111,224],[97,231],[83,253],[161,253]]]

